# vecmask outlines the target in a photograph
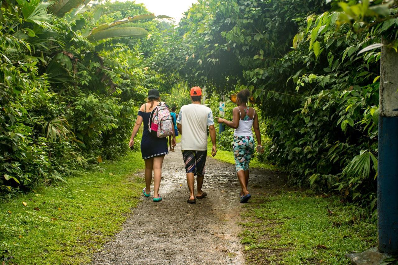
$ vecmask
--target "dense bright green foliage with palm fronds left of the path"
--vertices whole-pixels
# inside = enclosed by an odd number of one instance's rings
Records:
[[[163,84],[145,60],[151,56],[153,43],[160,41],[161,31],[169,26],[151,20],[154,15],[108,25],[148,14],[142,4],[83,4],[65,15],[57,13],[58,17],[50,13],[54,10],[50,4],[2,1],[3,195],[31,189],[39,180],[65,181],[64,175],[73,170],[125,154],[137,106],[147,88]],[[104,27],[112,27],[112,33],[106,33]],[[129,29],[130,37],[109,39],[121,29]],[[152,35],[131,38],[138,31]],[[92,37],[94,33],[105,39],[90,42],[99,39]]]

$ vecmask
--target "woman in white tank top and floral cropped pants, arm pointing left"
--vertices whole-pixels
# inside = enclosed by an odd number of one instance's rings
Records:
[[[236,105],[232,111],[232,121],[226,119],[219,119],[219,123],[224,123],[234,130],[233,150],[235,157],[235,167],[238,179],[240,182],[240,202],[246,203],[252,197],[247,189],[249,182],[249,163],[254,152],[254,139],[252,127],[257,138],[257,151],[263,152],[261,146],[261,135],[258,125],[258,116],[254,108],[246,106],[250,97],[250,91],[241,90],[236,97]]]

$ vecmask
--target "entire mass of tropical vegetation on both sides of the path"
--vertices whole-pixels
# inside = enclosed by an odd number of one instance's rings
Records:
[[[375,213],[379,48],[397,49],[396,14],[392,0],[199,0],[176,27],[134,2],[2,1],[0,194],[125,154],[147,89],[181,107],[199,84],[227,117],[226,96],[251,90],[259,160]],[[228,149],[232,131],[219,137]]]

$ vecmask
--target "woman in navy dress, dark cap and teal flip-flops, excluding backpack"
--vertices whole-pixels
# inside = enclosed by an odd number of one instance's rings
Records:
[[[168,154],[167,148],[167,137],[158,138],[152,136],[149,133],[148,122],[149,117],[154,109],[160,102],[160,94],[157,89],[151,89],[148,91],[148,102],[140,107],[138,112],[137,121],[135,122],[133,133],[130,138],[130,147],[134,146],[134,138],[137,135],[138,130],[141,127],[142,122],[144,123],[144,132],[142,133],[141,139],[141,154],[142,159],[145,161],[145,188],[142,190],[142,194],[145,197],[150,197],[150,183],[152,181],[153,171],[153,182],[154,182],[154,195],[153,201],[162,201],[162,197],[159,195],[160,180],[162,179],[162,164],[166,154]],[[173,147],[176,146],[176,136],[173,135],[172,139]]]

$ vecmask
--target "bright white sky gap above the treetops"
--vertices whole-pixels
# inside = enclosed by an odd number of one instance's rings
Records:
[[[182,13],[187,11],[197,0],[136,0],[135,2],[145,4],[146,8],[156,16],[171,16],[178,23],[183,17]]]

